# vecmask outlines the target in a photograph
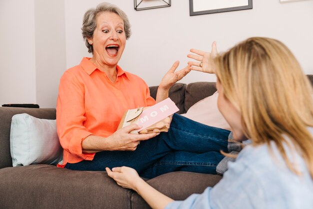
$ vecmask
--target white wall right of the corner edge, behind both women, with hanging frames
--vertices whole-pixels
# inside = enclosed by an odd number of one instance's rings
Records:
[[[80,34],[84,12],[101,0],[66,0],[66,67],[77,65],[82,56],[91,56]],[[251,36],[265,36],[286,44],[306,74],[313,74],[313,1],[280,4],[279,0],[253,0],[252,10],[189,16],[189,1],[171,1],[171,7],[135,11],[133,1],[107,0],[128,16],[132,35],[120,66],[158,85],[175,60],[179,69],[188,61],[190,48],[210,50],[212,41],[219,51]],[[75,8],[75,9],[73,9]],[[191,72],[181,82],[215,81],[212,75]]]

